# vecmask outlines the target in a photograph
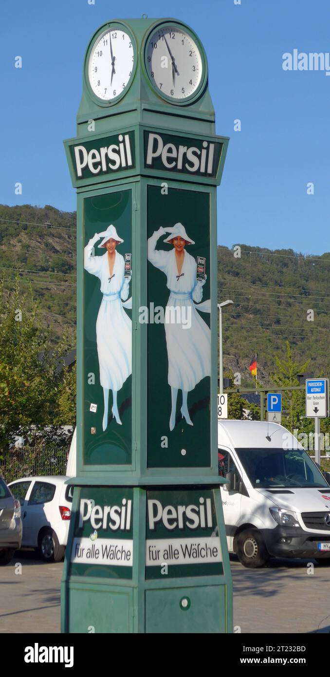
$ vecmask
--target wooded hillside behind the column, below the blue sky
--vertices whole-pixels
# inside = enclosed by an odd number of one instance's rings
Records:
[[[0,205],[5,288],[13,288],[16,271],[26,292],[30,280],[54,341],[64,328],[72,335],[75,330],[75,228],[74,212]],[[270,385],[275,354],[281,357],[289,341],[297,362],[310,358],[308,370],[329,373],[330,253],[316,257],[239,246],[240,257],[218,246],[218,299],[234,301],[222,311],[224,369],[240,372],[242,385],[252,386],[247,368],[257,353],[258,379]]]

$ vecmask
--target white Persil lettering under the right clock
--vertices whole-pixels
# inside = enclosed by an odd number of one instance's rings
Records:
[[[167,138],[167,135],[166,135]],[[212,144],[202,139],[185,139],[185,144],[179,144],[176,137],[171,136],[166,143],[160,134],[148,132],[145,166],[157,169],[179,171],[187,174],[208,175],[214,177],[217,167],[214,167],[214,150],[220,144]],[[191,145],[189,145],[189,142]],[[200,148],[197,148],[201,146]]]

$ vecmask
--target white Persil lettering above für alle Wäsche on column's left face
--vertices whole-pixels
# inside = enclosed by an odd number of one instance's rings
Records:
[[[93,529],[129,531],[131,529],[132,501],[122,499],[120,506],[95,506],[93,498],[80,500],[79,527],[90,521]]]

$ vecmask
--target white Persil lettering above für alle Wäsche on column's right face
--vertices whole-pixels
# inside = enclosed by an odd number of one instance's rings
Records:
[[[156,526],[163,523],[165,529],[202,529],[212,528],[211,499],[201,496],[199,505],[165,506],[160,501],[148,500],[149,529],[154,531]]]

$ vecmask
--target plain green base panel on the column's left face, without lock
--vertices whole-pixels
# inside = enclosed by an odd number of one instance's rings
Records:
[[[68,593],[68,632],[132,632],[132,590],[69,584]]]

